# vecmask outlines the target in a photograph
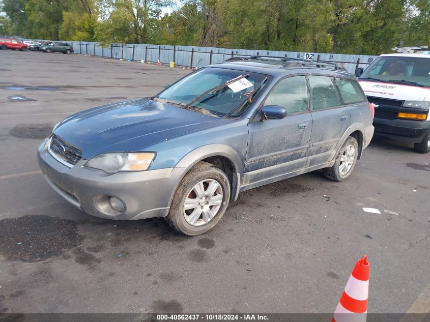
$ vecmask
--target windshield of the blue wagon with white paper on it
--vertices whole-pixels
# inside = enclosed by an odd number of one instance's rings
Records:
[[[234,78],[238,79],[229,82]],[[267,75],[263,74],[207,67],[167,87],[154,99],[205,114],[239,116],[249,108],[251,102],[247,99],[254,94],[252,91],[258,89],[254,97],[257,96],[267,85],[267,80]],[[227,85],[220,86],[226,82]]]

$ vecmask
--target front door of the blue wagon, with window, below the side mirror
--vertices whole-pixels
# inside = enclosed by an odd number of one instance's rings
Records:
[[[286,109],[282,120],[260,120],[248,124],[245,172],[249,183],[262,181],[304,168],[309,147],[312,118],[308,110],[306,76],[280,80],[263,105]]]

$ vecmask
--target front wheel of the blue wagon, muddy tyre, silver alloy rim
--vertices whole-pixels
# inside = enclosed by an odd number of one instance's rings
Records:
[[[200,235],[218,223],[228,200],[230,182],[225,173],[210,163],[199,162],[180,182],[165,219],[183,235]]]

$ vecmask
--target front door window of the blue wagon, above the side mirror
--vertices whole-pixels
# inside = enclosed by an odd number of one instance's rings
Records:
[[[277,83],[266,98],[265,105],[285,107],[286,113],[307,110],[307,84],[305,76],[293,76]]]

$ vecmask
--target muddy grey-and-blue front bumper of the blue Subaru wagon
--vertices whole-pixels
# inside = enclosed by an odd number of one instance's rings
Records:
[[[165,168],[108,175],[84,167],[87,160],[83,159],[69,168],[48,153],[46,140],[39,147],[38,162],[48,184],[68,202],[90,215],[117,220],[167,216],[185,170]],[[123,212],[110,207],[110,196],[125,204]]]

